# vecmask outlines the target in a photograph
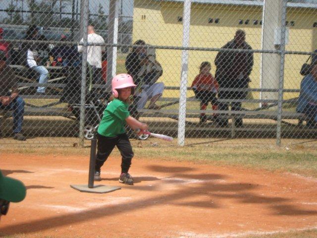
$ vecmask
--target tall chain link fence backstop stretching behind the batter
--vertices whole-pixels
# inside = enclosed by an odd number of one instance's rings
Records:
[[[125,72],[179,145],[316,143],[317,0],[3,2],[1,145],[83,146]]]

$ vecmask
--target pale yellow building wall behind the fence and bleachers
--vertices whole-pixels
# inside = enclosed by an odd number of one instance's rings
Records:
[[[145,40],[146,43],[157,46],[182,46],[183,22],[177,21],[183,14],[183,4],[169,1],[135,0],[133,19],[133,41]],[[219,18],[219,23],[208,23],[208,19]],[[249,20],[248,25],[239,25],[239,20]],[[254,25],[253,21],[259,24]],[[190,46],[204,48],[220,48],[233,39],[237,29],[246,31],[246,41],[253,49],[261,49],[262,7],[230,6],[221,4],[196,4],[191,6]],[[289,8],[287,21],[295,21],[295,26],[289,29],[289,44],[287,51],[313,51],[317,49],[317,33],[313,23],[317,21],[317,11],[302,8]],[[199,73],[202,61],[211,62],[211,72],[214,75],[214,59],[217,52],[190,51],[188,86],[191,86]],[[180,50],[157,50],[157,58],[163,67],[160,81],[166,86],[179,86],[181,71]],[[302,76],[299,74],[307,56],[287,55],[285,61],[285,88],[299,88]],[[266,69],[269,70],[269,69]],[[250,75],[250,87],[260,87],[261,54],[254,54],[254,67]],[[173,93],[173,95],[171,95]],[[175,96],[175,91],[165,91],[165,96]],[[190,95],[189,95],[190,96]],[[258,97],[258,94],[254,94]],[[294,94],[285,94],[286,98]],[[296,95],[295,95],[296,96]]]

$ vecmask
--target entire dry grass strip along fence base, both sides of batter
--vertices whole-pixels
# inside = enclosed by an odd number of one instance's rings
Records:
[[[206,141],[206,140],[205,140]],[[293,145],[287,147],[265,145],[211,145],[208,142],[185,147],[131,140],[136,158],[148,160],[194,162],[199,164],[226,165],[269,171],[297,173],[317,178],[317,148],[314,146]],[[89,156],[90,148],[48,147],[48,148],[6,148],[7,153],[59,154]],[[159,154],[158,154],[159,151]],[[0,150],[1,152],[1,150]],[[113,155],[119,156],[117,150]]]

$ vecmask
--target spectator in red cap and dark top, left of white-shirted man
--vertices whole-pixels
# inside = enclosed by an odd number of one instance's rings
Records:
[[[66,41],[67,37],[64,34],[61,34],[60,41]],[[50,56],[53,57],[55,63],[53,66],[71,66],[73,58],[75,58],[75,52],[71,46],[68,45],[57,45],[51,52]]]

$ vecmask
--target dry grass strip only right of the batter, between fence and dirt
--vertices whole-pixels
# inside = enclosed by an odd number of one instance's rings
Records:
[[[265,149],[264,149],[265,148]],[[143,158],[157,157],[157,149],[135,148],[135,154]],[[191,161],[214,165],[243,166],[298,173],[317,178],[317,150],[297,147],[278,148],[264,146],[193,146],[159,148],[162,160]]]

